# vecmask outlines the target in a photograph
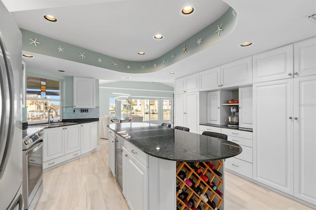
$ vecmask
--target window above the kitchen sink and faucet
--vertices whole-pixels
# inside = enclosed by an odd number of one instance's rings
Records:
[[[60,119],[60,81],[36,76],[27,76],[26,106],[28,122],[48,121],[48,110],[52,120]]]

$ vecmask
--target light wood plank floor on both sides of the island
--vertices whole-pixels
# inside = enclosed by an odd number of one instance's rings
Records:
[[[108,167],[108,140],[101,149],[43,173],[35,210],[129,210]],[[292,199],[225,173],[225,210],[313,210]]]

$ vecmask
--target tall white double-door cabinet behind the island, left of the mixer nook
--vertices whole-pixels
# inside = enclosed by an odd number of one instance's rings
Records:
[[[188,93],[174,96],[174,125],[184,126],[190,132],[198,133],[199,93]]]

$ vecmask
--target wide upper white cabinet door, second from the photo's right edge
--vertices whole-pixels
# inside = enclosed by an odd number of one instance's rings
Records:
[[[253,83],[293,77],[293,45],[253,56]]]

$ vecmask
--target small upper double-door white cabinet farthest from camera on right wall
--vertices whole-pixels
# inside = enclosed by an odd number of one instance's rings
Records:
[[[174,94],[191,93],[198,91],[198,73],[174,80]]]

